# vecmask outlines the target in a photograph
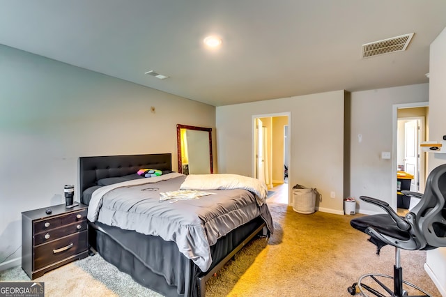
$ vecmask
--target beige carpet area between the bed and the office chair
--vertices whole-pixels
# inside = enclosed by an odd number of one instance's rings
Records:
[[[270,210],[276,232],[266,248],[258,240],[241,251],[208,282],[208,296],[351,296],[347,287],[360,275],[392,274],[394,248],[377,256],[368,236],[350,227],[355,216],[303,215],[284,204],[270,204]],[[403,278],[440,297],[425,259],[426,252],[402,251]]]

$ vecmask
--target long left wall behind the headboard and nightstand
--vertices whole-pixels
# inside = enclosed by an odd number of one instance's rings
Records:
[[[176,169],[178,123],[215,130],[215,107],[0,45],[0,270],[20,263],[20,213],[77,190],[79,156],[172,153]]]

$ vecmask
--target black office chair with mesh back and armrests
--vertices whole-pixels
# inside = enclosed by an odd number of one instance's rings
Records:
[[[390,296],[407,296],[403,284],[413,287],[429,296],[423,289],[403,280],[403,268],[400,265],[400,252],[403,250],[433,250],[446,246],[446,164],[432,170],[426,181],[426,190],[420,195],[417,192],[406,191],[405,195],[420,197],[420,202],[401,217],[390,208],[389,204],[379,199],[361,196],[360,199],[383,208],[386,213],[367,215],[351,220],[351,226],[370,236],[369,241],[376,245],[376,254],[385,245],[395,247],[394,275],[366,274],[355,282],[347,291],[356,294],[356,287],[363,296],[371,293],[374,296],[385,297],[383,291]],[[384,278],[393,279],[393,290],[383,284]],[[364,284],[367,279],[374,287]],[[410,297],[410,296],[407,296]],[[413,296],[417,297],[417,296]]]

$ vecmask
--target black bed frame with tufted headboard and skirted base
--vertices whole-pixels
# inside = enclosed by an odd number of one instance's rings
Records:
[[[133,174],[141,168],[171,170],[171,153],[79,158],[80,201],[88,204],[89,200],[84,199],[84,190],[97,186],[99,179]],[[220,238],[211,246],[213,264],[203,273],[171,241],[89,222],[92,248],[120,271],[130,274],[139,284],[166,296],[204,296],[206,281],[254,236],[266,236],[267,232],[265,222],[259,217]],[[141,250],[141,245],[145,245],[144,248],[148,250],[161,250],[169,255],[169,259],[178,267],[178,277],[174,283],[167,284],[161,273],[153,268],[156,266],[151,262],[153,259],[146,259],[146,253],[137,251]]]

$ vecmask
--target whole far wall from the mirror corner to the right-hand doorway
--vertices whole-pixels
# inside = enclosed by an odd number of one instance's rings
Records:
[[[426,101],[429,84],[414,84],[217,107],[220,171],[252,176],[252,116],[291,112],[290,191],[296,183],[317,188],[319,211],[342,214],[343,199],[351,196],[357,199],[360,213],[380,213],[380,208],[361,203],[359,197],[376,197],[397,206],[392,185],[397,169],[392,168],[392,159],[381,158],[382,151],[393,150],[397,132],[392,130],[393,106]]]

